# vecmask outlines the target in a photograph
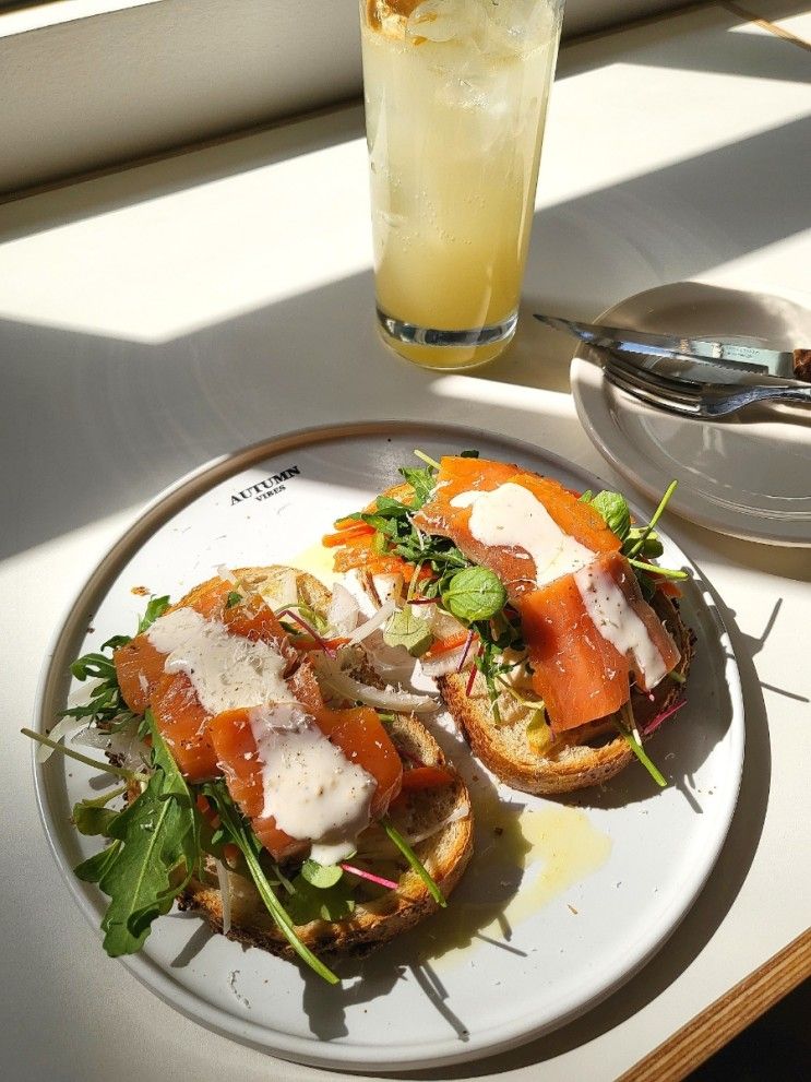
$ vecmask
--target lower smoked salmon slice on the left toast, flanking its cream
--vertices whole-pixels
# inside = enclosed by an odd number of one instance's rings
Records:
[[[371,815],[379,819],[399,793],[403,764],[391,737],[370,706],[348,710],[312,710],[310,716],[321,732],[338,747],[349,762],[362,766],[374,777]],[[251,820],[254,833],[276,860],[299,853],[307,840],[294,839],[276,825],[273,816],[263,816],[263,763],[251,728],[250,710],[229,710],[217,714],[208,733],[225,775],[228,792]]]

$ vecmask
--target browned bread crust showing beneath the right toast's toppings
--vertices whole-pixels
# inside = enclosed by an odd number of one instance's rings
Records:
[[[676,667],[678,678],[666,677],[654,690],[653,700],[634,691],[632,706],[640,733],[672,706],[682,693],[695,649],[695,637],[681,618],[677,605],[657,594],[653,607],[673,637],[681,652]],[[493,717],[481,674],[467,694],[468,674],[453,674],[438,680],[442,698],[464,729],[481,762],[502,782],[524,793],[554,794],[599,785],[613,777],[634,759],[625,740],[617,734],[611,718],[600,718],[553,736],[548,726],[540,739],[527,730],[533,711],[508,691],[497,700],[501,724]],[[643,736],[644,740],[644,736]]]

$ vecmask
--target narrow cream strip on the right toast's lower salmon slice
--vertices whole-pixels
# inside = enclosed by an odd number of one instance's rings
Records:
[[[620,654],[633,657],[645,687],[655,688],[667,676],[667,666],[622,590],[598,567],[576,571],[574,582],[586,613],[603,638]]]

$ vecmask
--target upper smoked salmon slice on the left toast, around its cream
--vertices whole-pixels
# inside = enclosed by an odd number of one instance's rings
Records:
[[[294,664],[296,654],[270,606],[255,594],[229,605],[229,595],[234,593],[239,593],[238,585],[223,579],[210,579],[167,613],[194,609],[206,620],[219,620],[230,634],[273,645]],[[212,715],[200,703],[189,677],[184,673],[164,671],[166,655],[153,646],[148,631],[119,647],[112,659],[124,702],[135,714],[152,710],[183,776],[191,782],[213,777],[217,773],[217,757],[207,732]],[[309,664],[300,665],[288,676],[287,683],[293,697],[306,705],[323,705]]]

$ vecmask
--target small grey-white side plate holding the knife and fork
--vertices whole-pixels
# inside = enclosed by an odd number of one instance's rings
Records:
[[[637,294],[599,321],[672,334],[752,341],[774,349],[811,343],[811,311],[789,300],[680,282]],[[599,322],[598,321],[598,322]],[[811,411],[763,405],[725,420],[678,417],[644,405],[577,349],[577,416],[611,465],[656,502],[732,537],[811,545]]]

